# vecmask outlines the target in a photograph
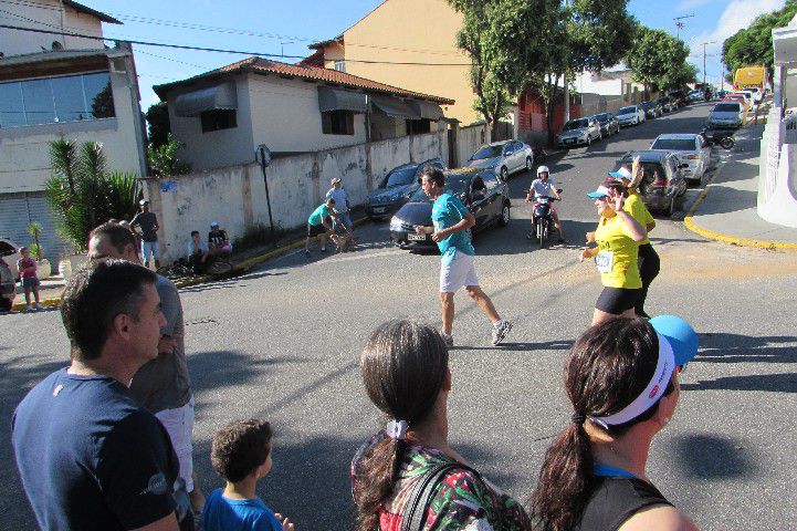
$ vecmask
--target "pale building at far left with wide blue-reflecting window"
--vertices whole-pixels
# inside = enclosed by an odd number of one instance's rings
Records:
[[[2,23],[102,38],[112,17],[67,0],[3,3]],[[44,256],[71,247],[44,199],[50,143],[99,142],[109,169],[146,171],[145,132],[133,51],[102,40],[2,30],[0,41],[0,236],[29,244],[39,221]]]

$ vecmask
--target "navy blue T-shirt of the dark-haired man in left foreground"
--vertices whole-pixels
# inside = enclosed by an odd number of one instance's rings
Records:
[[[169,435],[114,378],[51,374],[17,407],[11,444],[42,530],[137,529],[175,511]]]

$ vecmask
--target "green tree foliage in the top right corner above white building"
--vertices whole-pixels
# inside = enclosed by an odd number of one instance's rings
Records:
[[[795,14],[797,14],[797,0],[787,0],[783,9],[762,14],[748,28],[728,37],[722,45],[722,61],[730,71],[728,81],[733,82],[737,69],[764,65],[772,82],[775,62],[772,30],[788,25]]]

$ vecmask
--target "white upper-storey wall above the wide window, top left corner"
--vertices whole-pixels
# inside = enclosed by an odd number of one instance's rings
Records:
[[[0,22],[3,24],[19,25],[23,28],[36,28],[42,30],[63,29],[69,32],[103,35],[103,28],[99,20],[91,14],[84,14],[70,7],[62,10],[59,0],[36,0],[35,2],[2,2],[3,11],[11,14],[0,13]],[[33,19],[35,22],[31,22]],[[33,33],[28,31],[2,30],[0,39],[0,52],[6,56],[20,55],[23,53],[41,52],[42,48],[52,50],[53,41],[59,42],[64,50],[102,49],[103,41],[94,39],[80,39],[69,35],[52,35],[49,33]]]

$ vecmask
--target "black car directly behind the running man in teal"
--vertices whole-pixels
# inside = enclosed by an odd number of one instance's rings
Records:
[[[445,191],[459,198],[476,218],[474,231],[493,221],[510,223],[510,187],[492,169],[459,168],[445,171]],[[431,227],[432,199],[419,188],[390,220],[390,240],[401,249],[437,248],[431,235],[416,235],[417,226]]]

